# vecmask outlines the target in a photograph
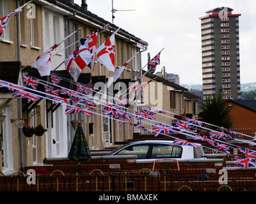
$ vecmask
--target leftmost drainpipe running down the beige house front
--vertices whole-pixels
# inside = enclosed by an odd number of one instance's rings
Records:
[[[19,8],[19,0],[16,0],[16,8]],[[17,27],[17,61],[20,62],[20,13],[16,14],[16,27]],[[20,62],[21,63],[21,62]],[[20,72],[21,74],[21,72]],[[22,119],[22,99],[18,99],[19,102],[19,119]],[[22,129],[19,129],[19,139],[20,139],[20,171],[24,171],[23,166],[23,138],[22,138]]]

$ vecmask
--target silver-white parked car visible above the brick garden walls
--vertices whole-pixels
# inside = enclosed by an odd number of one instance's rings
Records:
[[[205,159],[205,154],[202,147],[195,148],[189,145],[173,145],[173,141],[166,140],[145,140],[140,142],[131,142],[107,154],[107,156],[128,155],[136,155],[137,159],[148,160]]]

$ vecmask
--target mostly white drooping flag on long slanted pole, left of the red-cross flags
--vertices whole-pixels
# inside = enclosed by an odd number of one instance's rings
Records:
[[[40,54],[38,57],[36,57],[36,61],[33,63],[31,67],[38,69],[38,72],[40,73],[41,77],[43,76],[49,76],[51,73],[51,55],[53,50],[58,47],[63,41],[67,40],[70,36],[80,31],[81,28],[77,29],[77,31],[74,31],[67,37],[65,37],[63,40],[59,41],[58,43],[54,44],[51,48],[46,50],[43,54]]]

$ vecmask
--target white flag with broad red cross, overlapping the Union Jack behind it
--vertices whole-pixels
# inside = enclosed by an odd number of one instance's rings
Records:
[[[75,82],[77,82],[80,73],[93,58],[93,54],[90,52],[87,43],[82,40],[80,41],[80,47],[77,45],[77,49],[65,59],[66,68]]]

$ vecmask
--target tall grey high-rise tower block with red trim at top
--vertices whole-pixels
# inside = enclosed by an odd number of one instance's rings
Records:
[[[220,7],[200,17],[204,98],[223,92],[226,98],[241,98],[239,16]]]

